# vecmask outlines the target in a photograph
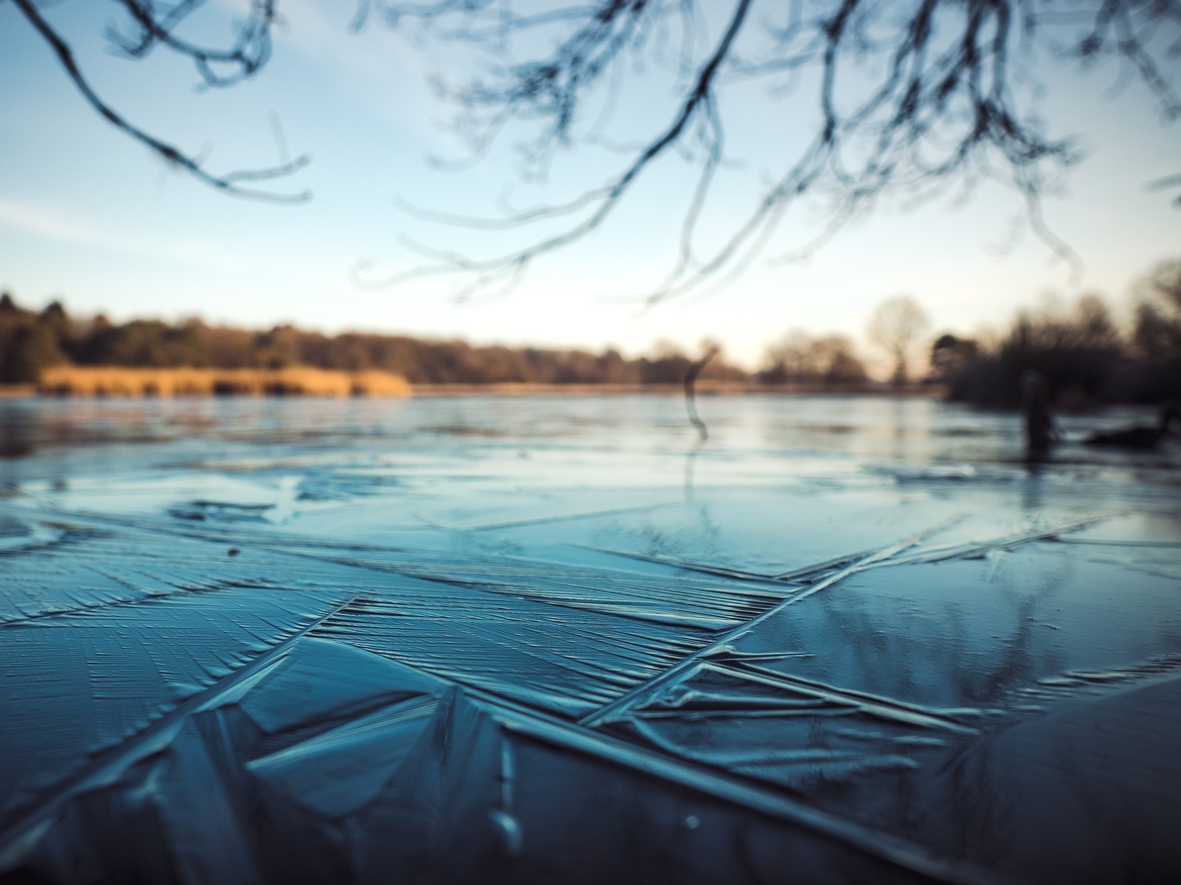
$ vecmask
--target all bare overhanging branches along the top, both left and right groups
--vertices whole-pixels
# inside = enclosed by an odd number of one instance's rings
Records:
[[[201,0],[113,0],[128,19],[112,34],[129,58],[155,48],[193,60],[208,87],[254,76],[270,55],[278,0],[250,0],[249,15],[227,46],[178,37]],[[304,159],[274,169],[215,176],[190,155],[126,123],[85,80],[60,35],[34,0],[13,0],[48,41],[86,100],[106,119],[184,171],[234,194],[243,182],[286,175]],[[511,0],[360,0],[353,22],[378,18],[417,27],[428,39],[470,46],[483,73],[438,83],[458,110],[457,125],[478,157],[511,125],[526,130],[524,172],[544,175],[562,150],[607,145],[615,169],[570,198],[497,217],[456,217],[438,206],[419,216],[481,229],[520,229],[524,244],[485,256],[409,243],[425,263],[371,282],[428,275],[466,278],[459,294],[511,287],[541,256],[595,231],[665,157],[696,166],[680,218],[680,244],[650,302],[711,291],[742,274],[771,248],[785,212],[804,195],[827,201],[827,223],[811,243],[782,251],[791,260],[824,242],[888,192],[922,198],[984,178],[1011,184],[1030,225],[1051,249],[1072,257],[1040,216],[1040,199],[1079,151],[1046,133],[1033,112],[1036,58],[1092,65],[1118,60],[1121,78],[1138,78],[1163,119],[1181,116],[1173,86],[1181,0],[554,0],[528,8]],[[664,70],[674,88],[663,119],[633,145],[602,137],[614,97],[635,84],[641,63]],[[725,160],[725,98],[744,84],[783,99],[784,119],[809,137],[784,149],[750,214],[720,240],[702,236]],[[1170,188],[1167,178],[1154,186]],[[676,223],[676,222],[674,222]],[[363,271],[364,273],[364,271]]]

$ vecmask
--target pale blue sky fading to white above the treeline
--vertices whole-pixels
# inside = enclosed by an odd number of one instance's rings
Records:
[[[214,19],[228,4],[215,4]],[[423,221],[399,201],[495,215],[503,199],[569,197],[619,159],[580,149],[560,155],[546,182],[522,182],[509,132],[481,162],[439,169],[431,158],[461,158],[464,145],[428,80],[470,61],[380,25],[351,33],[350,0],[280,8],[286,25],[263,72],[207,91],[194,88],[191,65],[167,53],[146,61],[111,53],[103,34],[115,20],[112,4],[61,0],[46,17],[104,98],[154,135],[205,153],[215,171],[273,164],[281,149],[272,119],[279,120],[289,151],[312,156],[307,169],[275,185],[311,190],[299,205],[227,197],[165,168],[98,117],[13,5],[0,2],[0,288],[27,306],[61,299],[71,313],[117,321],[200,315],[249,327],[293,322],[479,343],[614,346],[629,355],[660,339],[692,349],[710,336],[753,368],[766,345],[794,328],[864,343],[874,307],[899,294],[926,309],[932,332],[964,334],[1003,327],[1048,293],[1096,291],[1125,310],[1140,275],[1181,256],[1181,210],[1172,195],[1144,188],[1181,171],[1181,123],[1163,125],[1138,85],[1113,90],[1111,66],[1087,73],[1046,66],[1039,113],[1052,133],[1075,133],[1085,149],[1044,205],[1049,227],[1082,260],[1077,273],[1020,223],[1018,196],[986,182],[966,199],[888,201],[804,262],[759,261],[707,299],[642,309],[620,296],[642,294],[667,267],[693,181],[672,158],[653,168],[601,231],[540,261],[505,296],[457,303],[457,281],[359,287],[358,262],[371,262],[374,274],[420,263],[407,236],[471,255],[508,242]],[[629,83],[612,124],[620,139],[668,114],[667,84],[644,76]],[[746,164],[726,172],[706,214],[707,235],[743,217],[752,183],[807,129],[785,113],[769,117],[776,107],[765,94],[727,98],[727,144]],[[802,203],[765,257],[807,242],[821,222],[815,203]]]

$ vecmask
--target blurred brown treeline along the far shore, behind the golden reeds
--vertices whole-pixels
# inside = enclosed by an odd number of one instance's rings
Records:
[[[918,306],[913,309],[919,310]],[[1134,314],[1122,324],[1101,299],[1085,296],[1069,307],[1022,310],[999,335],[970,339],[948,333],[926,341],[913,339],[914,352],[925,352],[922,374],[916,380],[945,386],[952,400],[1016,407],[1022,375],[1031,369],[1044,375],[1058,408],[1181,400],[1181,261],[1159,264],[1141,280]],[[463,341],[405,335],[325,335],[292,326],[255,332],[209,326],[201,320],[132,320],[117,324],[103,316],[71,317],[59,302],[34,312],[19,307],[9,294],[0,296],[0,382],[6,384],[35,384],[44,368],[66,363],[380,369],[417,385],[678,385],[693,359],[672,345],[629,360],[614,349],[594,354],[475,347]],[[788,333],[768,347],[756,373],[717,356],[700,376],[810,388],[877,386],[869,381],[864,361],[848,337],[817,337],[803,332]],[[905,369],[895,372],[895,378],[905,381]]]

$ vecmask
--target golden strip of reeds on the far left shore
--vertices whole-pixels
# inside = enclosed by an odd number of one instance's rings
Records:
[[[124,368],[56,366],[41,372],[38,392],[63,396],[410,396],[406,379],[389,372]]]

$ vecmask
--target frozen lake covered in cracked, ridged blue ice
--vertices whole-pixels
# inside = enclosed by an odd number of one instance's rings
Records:
[[[698,405],[0,400],[0,883],[1181,878],[1150,413]]]

